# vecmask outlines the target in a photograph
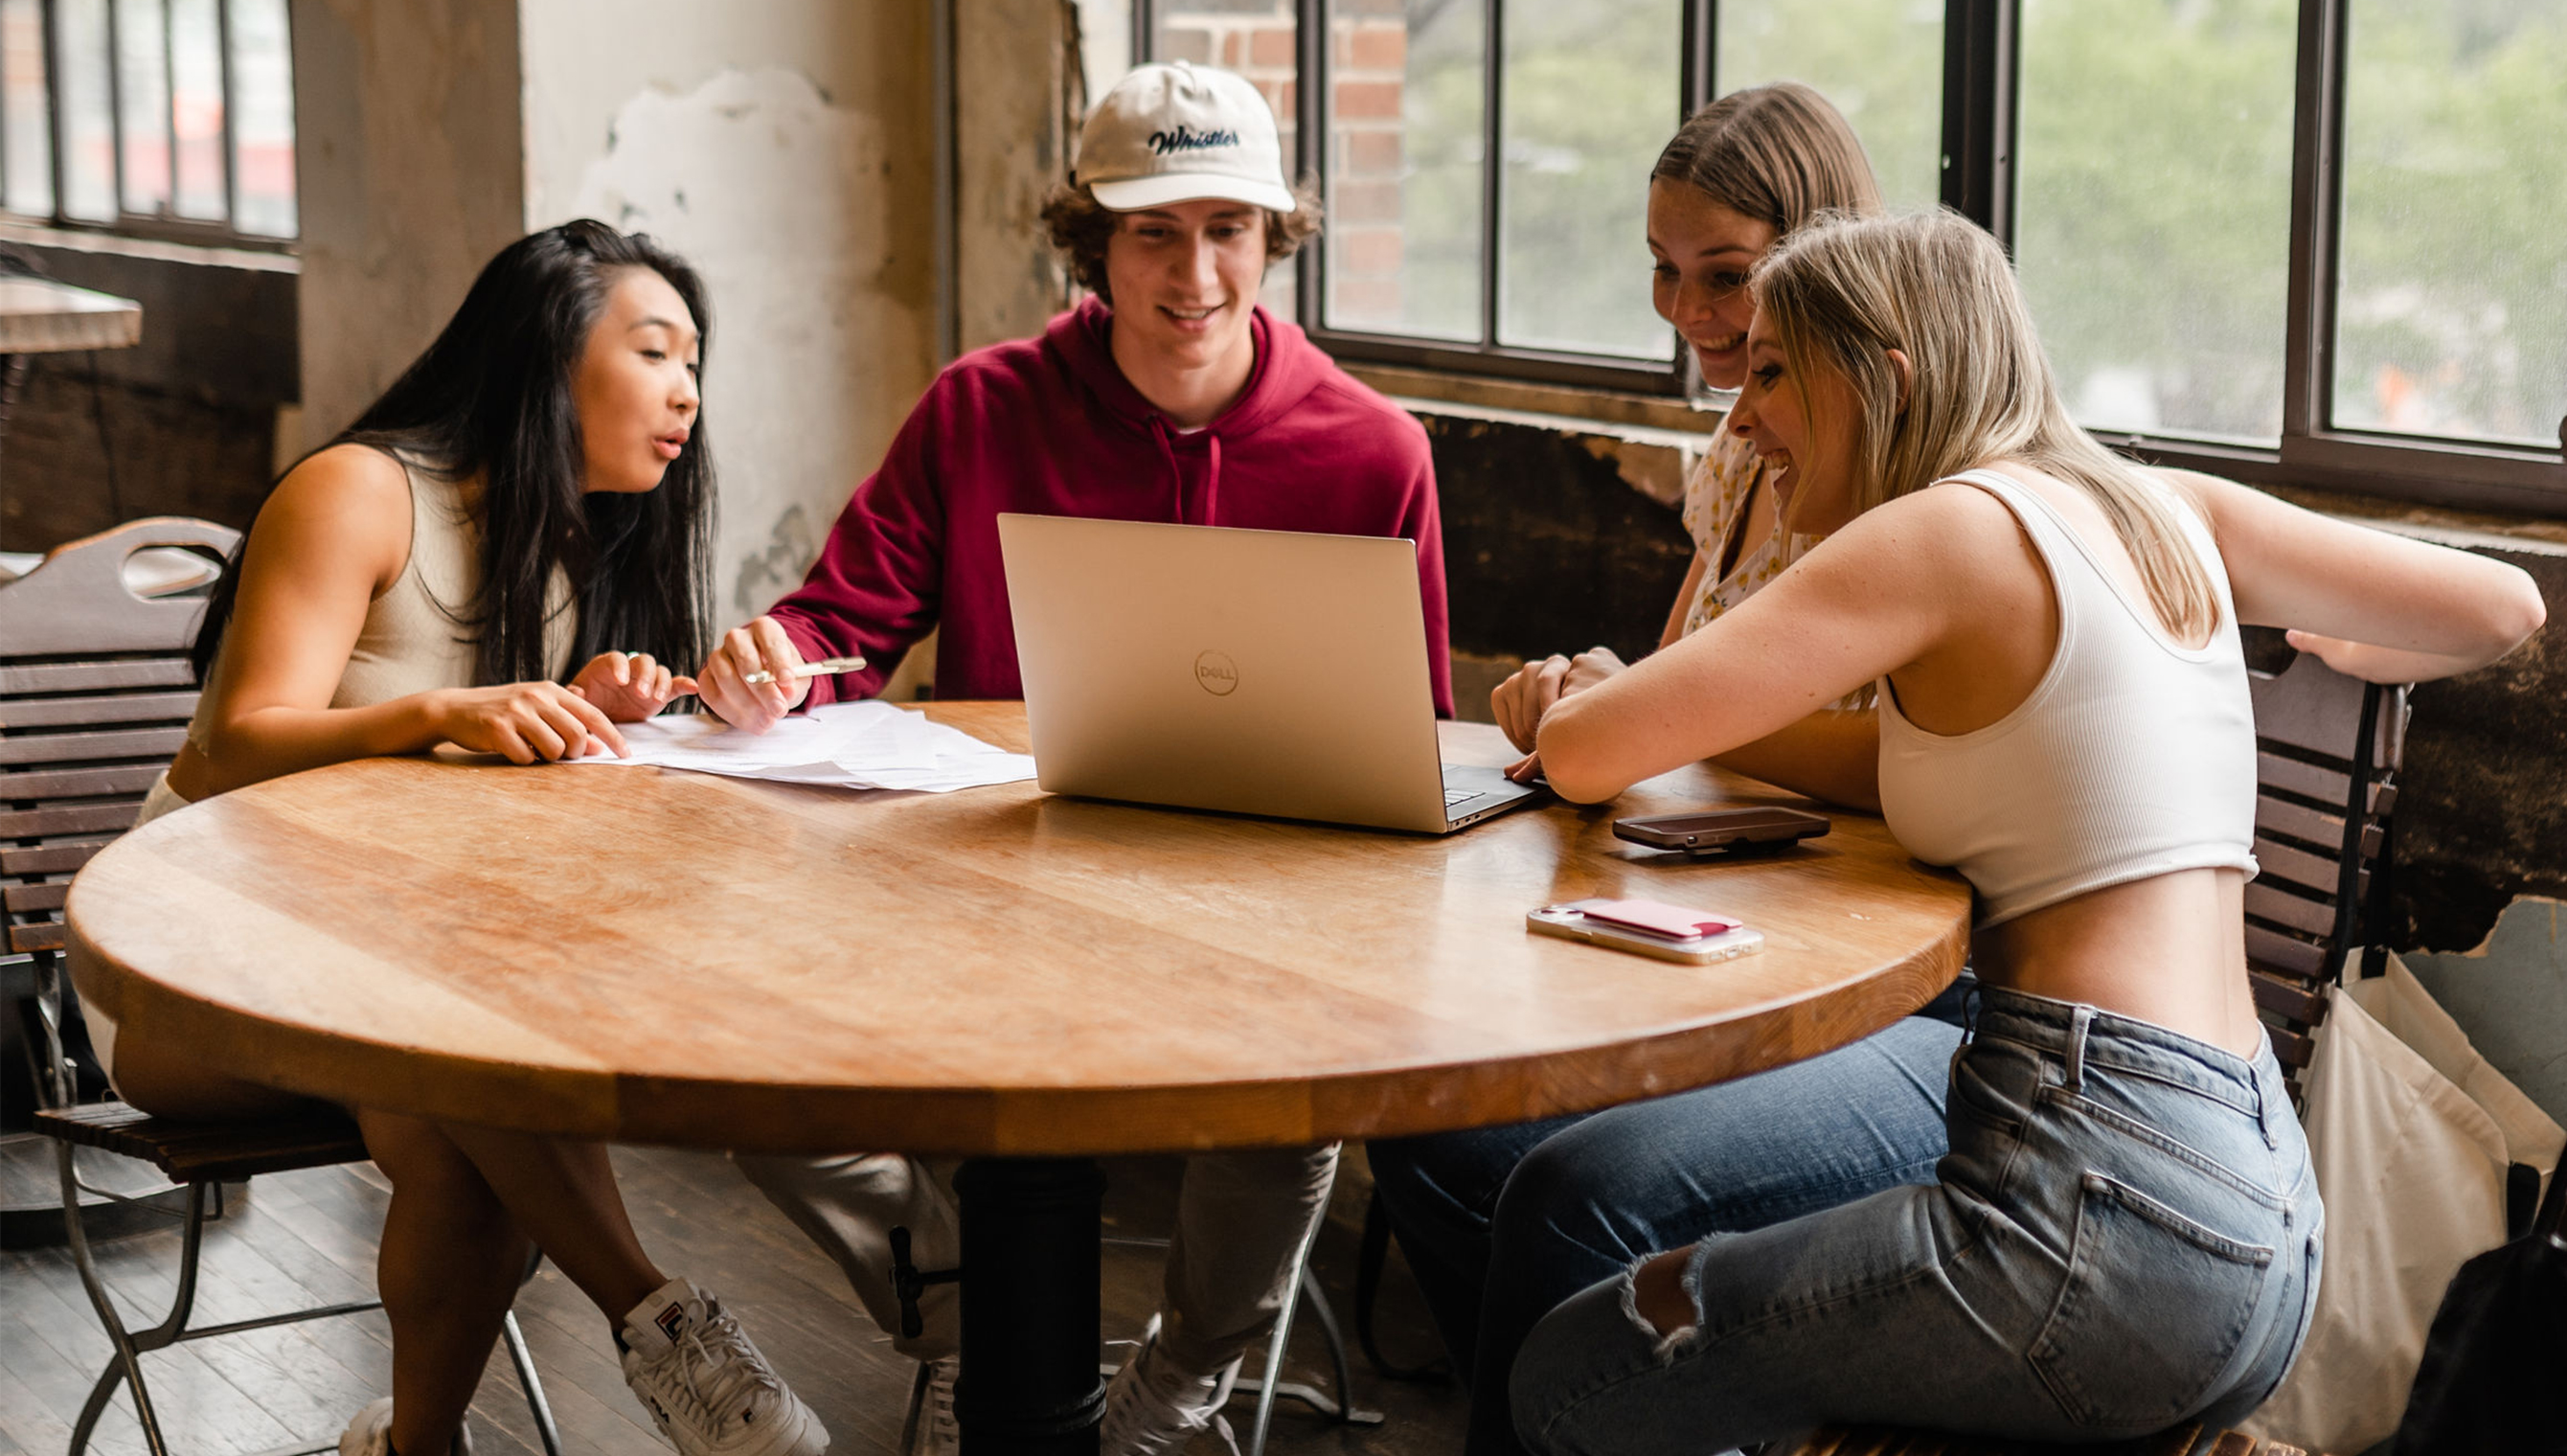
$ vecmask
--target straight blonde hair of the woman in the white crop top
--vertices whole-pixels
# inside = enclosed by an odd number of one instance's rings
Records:
[[[2174,503],[2069,419],[1997,239],[1951,211],[1828,216],[1779,241],[1751,288],[1794,375],[1820,365],[1853,388],[1856,514],[2020,460],[2095,498],[2169,637],[2200,642],[2218,624]],[[1907,354],[1905,406],[1889,349]]]

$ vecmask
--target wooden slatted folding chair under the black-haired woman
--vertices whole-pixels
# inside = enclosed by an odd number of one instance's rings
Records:
[[[149,1117],[123,1102],[77,1104],[74,1068],[62,1043],[62,906],[72,873],[116,835],[133,827],[144,793],[187,740],[195,714],[195,639],[200,596],[136,596],[126,562],[151,547],[193,547],[228,557],[239,532],[210,521],[151,519],[56,547],[44,565],[0,585],[0,896],[8,906],[8,955],[21,984],[13,999],[36,1007],[44,1043],[36,1132],[54,1138],[62,1179],[62,1220],[72,1263],[98,1310],[116,1356],[98,1374],[72,1428],[67,1456],[80,1456],[118,1384],[133,1389],[133,1415],[151,1456],[169,1456],[141,1358],[182,1340],[205,1340],[300,1320],[329,1320],[380,1310],[321,1304],[257,1320],[187,1328],[195,1310],[198,1258],[208,1207],[218,1217],[223,1184],[259,1174],[362,1163],[357,1125],[336,1109],[303,1117],[182,1122]],[[169,1312],[146,1330],[128,1330],[108,1297],[90,1251],[82,1194],[118,1207],[151,1199],[87,1189],[77,1148],[95,1148],[157,1166],[185,1189],[177,1294]],[[547,1456],[560,1456],[560,1430],[534,1371],[526,1338],[511,1312],[503,1322],[526,1405]],[[336,1443],[316,1446],[334,1451]]]

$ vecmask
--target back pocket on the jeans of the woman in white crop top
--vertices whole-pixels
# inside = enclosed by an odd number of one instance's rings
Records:
[[[2069,1274],[2030,1364],[2079,1425],[2159,1430],[2220,1392],[2274,1251],[2084,1174]]]

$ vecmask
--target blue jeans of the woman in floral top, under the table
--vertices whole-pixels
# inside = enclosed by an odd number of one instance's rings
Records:
[[[1371,1143],[1381,1207],[1471,1387],[1468,1456],[1520,1451],[1507,1376],[1561,1299],[1663,1248],[1930,1181],[1964,991],[1740,1081]]]

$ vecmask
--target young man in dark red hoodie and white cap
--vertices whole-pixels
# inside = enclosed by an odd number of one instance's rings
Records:
[[[1435,709],[1453,711],[1443,532],[1425,431],[1258,308],[1266,267],[1319,231],[1284,182],[1273,113],[1245,80],[1140,67],[1088,118],[1078,180],[1045,203],[1052,247],[1094,298],[1042,339],[955,360],[857,485],[801,591],[732,629],[698,673],[703,704],[762,732],[803,704],[880,691],[937,637],[937,696],[1017,698],[999,514],[1183,521],[1417,542]],[[860,673],[796,678],[821,657]],[[750,673],[773,673],[747,683]],[[809,691],[809,696],[806,696]],[[886,1330],[898,1330],[886,1230],[922,1269],[957,1261],[952,1202],[896,1153],[739,1158]],[[1168,1292],[1106,1392],[1104,1456],[1176,1451],[1212,1425],[1248,1346],[1273,1328],[1327,1207],[1337,1148],[1186,1163]],[[922,1299],[950,1400],[952,1287]],[[934,1412],[929,1412],[934,1428]]]

